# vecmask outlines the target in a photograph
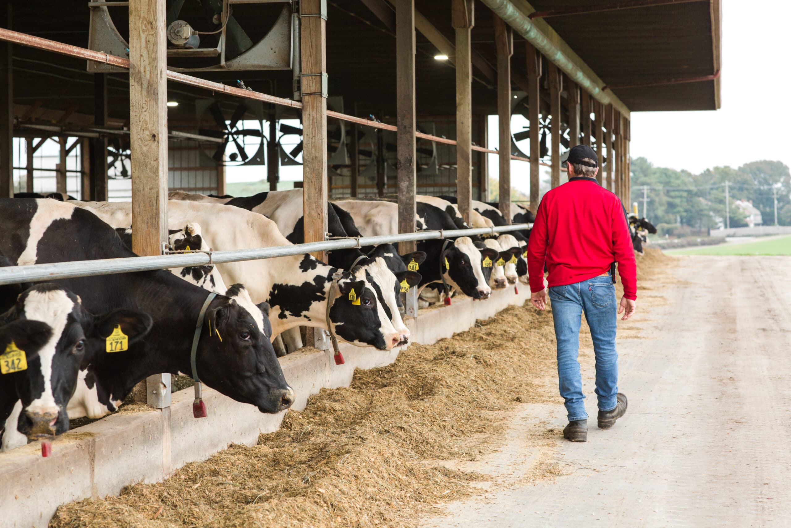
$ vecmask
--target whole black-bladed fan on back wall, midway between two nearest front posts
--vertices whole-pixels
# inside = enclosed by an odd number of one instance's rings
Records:
[[[201,142],[203,153],[222,165],[263,165],[263,105],[257,101],[197,101],[198,133],[222,139]]]

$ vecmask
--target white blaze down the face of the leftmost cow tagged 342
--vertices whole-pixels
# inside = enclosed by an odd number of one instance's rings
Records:
[[[47,323],[52,328],[50,339],[39,351],[44,392],[28,405],[28,412],[58,412],[52,393],[52,362],[55,360],[55,348],[63,329],[66,328],[71,310],[74,310],[74,302],[62,290],[33,290],[25,298],[25,317],[31,321]]]

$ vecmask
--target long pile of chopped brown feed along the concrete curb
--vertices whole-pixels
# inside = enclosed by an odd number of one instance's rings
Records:
[[[644,289],[666,260],[641,258]],[[50,526],[416,526],[453,501],[552,481],[561,431],[536,411],[562,408],[554,355],[551,312],[509,308],[323,389],[257,446],[66,504]],[[518,438],[513,416],[528,426]]]

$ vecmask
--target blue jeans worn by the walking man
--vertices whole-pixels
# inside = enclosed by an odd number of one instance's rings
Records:
[[[560,395],[566,399],[569,421],[588,418],[577,361],[582,313],[591,329],[596,352],[599,410],[611,411],[617,405],[615,396],[618,394],[618,352],[615,351],[618,303],[610,275],[551,287],[549,297],[552,299],[554,336],[558,340],[558,386]]]

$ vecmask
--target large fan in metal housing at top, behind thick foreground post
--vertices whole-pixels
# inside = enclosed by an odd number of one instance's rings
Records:
[[[289,70],[297,47],[297,2],[290,0],[167,0],[171,70]],[[91,0],[89,48],[129,56],[129,8]],[[244,26],[244,27],[243,27]],[[93,72],[119,71],[89,61]]]

